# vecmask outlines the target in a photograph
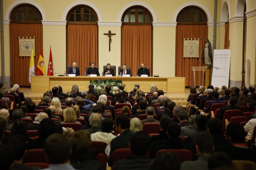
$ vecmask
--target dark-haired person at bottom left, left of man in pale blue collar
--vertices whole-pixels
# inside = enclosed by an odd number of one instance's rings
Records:
[[[39,170],[39,167],[26,166],[23,164],[23,158],[26,154],[26,138],[21,135],[15,135],[9,141],[9,145],[14,151],[14,161],[12,169]]]

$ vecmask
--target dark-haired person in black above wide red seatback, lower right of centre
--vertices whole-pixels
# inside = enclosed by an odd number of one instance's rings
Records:
[[[151,144],[150,158],[156,157],[156,152],[161,149],[188,149],[192,150],[190,146],[182,144],[180,136],[180,126],[176,122],[171,122],[167,127],[167,135],[169,139],[166,141],[158,141]]]

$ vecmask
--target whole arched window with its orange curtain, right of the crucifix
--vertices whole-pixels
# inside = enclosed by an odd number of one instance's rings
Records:
[[[151,67],[152,75],[152,15],[143,6],[124,11],[121,27],[121,66],[131,67],[134,74],[141,63]]]

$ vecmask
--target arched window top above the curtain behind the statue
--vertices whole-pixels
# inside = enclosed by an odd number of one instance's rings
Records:
[[[179,25],[206,25],[207,17],[200,8],[188,6],[180,11],[176,22]]]

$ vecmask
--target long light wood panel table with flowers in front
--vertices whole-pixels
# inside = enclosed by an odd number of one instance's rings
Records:
[[[160,90],[166,93],[185,93],[185,77],[63,77],[63,76],[32,76],[31,92],[46,92],[52,90],[54,85],[60,85],[64,91],[71,91],[73,85],[79,86],[79,91],[88,91],[90,80],[115,79],[122,80],[125,83],[126,91],[130,92],[135,83],[140,84],[140,89],[147,93],[150,91],[150,85],[154,84]]]

